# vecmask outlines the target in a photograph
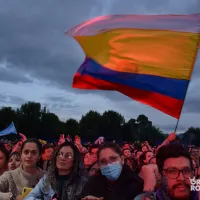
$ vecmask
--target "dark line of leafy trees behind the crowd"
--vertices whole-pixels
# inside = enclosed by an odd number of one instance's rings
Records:
[[[155,127],[147,116],[141,114],[137,119],[128,121],[118,112],[113,110],[100,114],[89,111],[83,115],[80,121],[68,118],[63,122],[59,117],[51,113],[46,107],[37,102],[27,102],[19,108],[2,107],[0,109],[0,130],[5,129],[14,122],[18,132],[27,137],[54,140],[60,134],[81,136],[84,141],[94,141],[103,136],[107,140],[115,141],[146,141],[155,145],[161,143],[166,135]],[[191,137],[192,133],[192,137]],[[200,144],[200,129],[191,127],[182,137],[184,142]]]

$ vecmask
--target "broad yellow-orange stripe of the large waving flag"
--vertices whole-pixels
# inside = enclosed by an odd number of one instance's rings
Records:
[[[190,79],[199,33],[115,29],[76,36],[86,56],[119,72]]]

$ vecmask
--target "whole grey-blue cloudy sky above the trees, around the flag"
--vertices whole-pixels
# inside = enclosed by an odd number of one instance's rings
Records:
[[[0,0],[0,107],[41,102],[61,120],[89,110],[113,109],[128,120],[145,114],[165,132],[176,120],[117,92],[71,87],[84,53],[64,31],[105,14],[188,14],[199,0]],[[200,126],[200,55],[188,90],[179,131]]]

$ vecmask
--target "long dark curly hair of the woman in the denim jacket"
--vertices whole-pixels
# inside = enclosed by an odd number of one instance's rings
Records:
[[[81,177],[85,176],[85,169],[84,165],[82,162],[81,154],[78,150],[78,148],[70,143],[70,142],[65,142],[58,146],[58,148],[55,151],[55,154],[51,160],[51,165],[49,167],[48,173],[47,173],[47,178],[46,178],[46,184],[45,184],[45,189],[48,190],[49,186],[51,186],[55,191],[57,191],[57,175],[58,175],[58,169],[56,167],[56,160],[58,153],[60,149],[63,147],[71,147],[74,152],[74,163],[73,163],[73,169],[72,172],[70,173],[69,176],[69,182],[71,180],[75,180],[75,182],[79,181]]]

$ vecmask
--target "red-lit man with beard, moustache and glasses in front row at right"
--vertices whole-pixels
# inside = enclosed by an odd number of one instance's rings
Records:
[[[161,147],[156,163],[161,175],[160,187],[156,192],[144,191],[136,200],[198,200],[198,192],[190,189],[190,178],[194,177],[192,159],[182,145]]]

